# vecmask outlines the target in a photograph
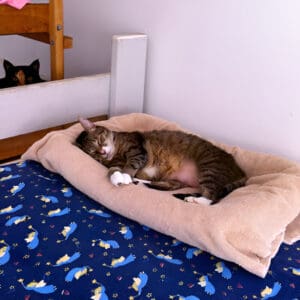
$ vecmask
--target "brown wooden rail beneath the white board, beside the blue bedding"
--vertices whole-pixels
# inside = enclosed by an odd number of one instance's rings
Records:
[[[107,119],[107,115],[89,118],[93,122]],[[67,123],[51,128],[46,128],[14,137],[0,139],[0,163],[19,158],[35,141],[41,139],[50,131],[68,128],[77,122]]]

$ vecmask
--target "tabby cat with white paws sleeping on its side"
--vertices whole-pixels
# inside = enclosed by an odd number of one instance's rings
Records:
[[[199,195],[186,201],[216,203],[246,182],[231,154],[196,135],[167,130],[115,132],[87,119],[80,118],[80,123],[85,130],[77,137],[77,146],[109,168],[115,185],[129,184],[136,177],[160,190],[195,187]]]

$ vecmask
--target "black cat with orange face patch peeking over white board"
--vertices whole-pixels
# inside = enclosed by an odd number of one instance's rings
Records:
[[[0,79],[0,88],[43,82],[39,75],[40,62],[38,59],[28,66],[14,66],[8,60],[3,61],[5,77]]]

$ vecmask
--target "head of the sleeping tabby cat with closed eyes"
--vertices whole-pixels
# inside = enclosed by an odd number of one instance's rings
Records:
[[[76,144],[94,159],[110,161],[115,154],[114,133],[90,120],[79,118],[84,131],[77,137]]]

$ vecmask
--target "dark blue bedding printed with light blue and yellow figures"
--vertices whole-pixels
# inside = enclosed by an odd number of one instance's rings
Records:
[[[300,242],[282,244],[262,279],[112,212],[37,162],[1,167],[0,198],[1,299],[299,299]]]

